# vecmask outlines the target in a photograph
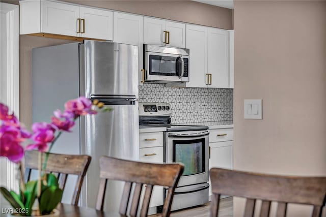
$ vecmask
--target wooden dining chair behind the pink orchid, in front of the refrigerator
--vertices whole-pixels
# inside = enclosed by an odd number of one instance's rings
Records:
[[[38,169],[38,154],[38,151],[25,151],[25,182],[30,180],[32,170]],[[42,154],[42,162],[44,162],[44,159],[45,153]],[[76,206],[78,205],[83,180],[90,163],[91,157],[87,155],[49,153],[45,171],[57,175],[59,187],[62,190],[65,189],[68,175],[78,176],[71,200],[71,204]]]

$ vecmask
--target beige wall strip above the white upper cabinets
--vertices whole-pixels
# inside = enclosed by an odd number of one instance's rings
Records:
[[[232,29],[231,9],[193,1],[64,1],[170,20]]]

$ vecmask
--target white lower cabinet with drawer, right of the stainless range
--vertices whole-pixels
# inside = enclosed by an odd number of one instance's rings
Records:
[[[232,147],[233,147],[233,128],[209,130],[209,148],[210,159],[209,169],[213,167],[219,167],[224,169],[232,169]],[[219,136],[218,139],[212,139],[211,137]],[[224,138],[220,138],[224,137]],[[228,141],[229,140],[229,141]],[[213,141],[213,142],[211,142]],[[211,182],[209,178],[209,198],[212,195]]]

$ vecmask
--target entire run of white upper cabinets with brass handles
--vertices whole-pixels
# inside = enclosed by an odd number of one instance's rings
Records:
[[[54,38],[56,35],[64,35],[138,46],[140,85],[143,84],[145,72],[143,45],[153,44],[189,49],[189,82],[185,83],[186,87],[234,86],[234,30],[113,12],[61,1],[19,1],[19,5],[21,35]]]

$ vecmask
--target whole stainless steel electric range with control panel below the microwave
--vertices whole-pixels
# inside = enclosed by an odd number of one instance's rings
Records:
[[[171,115],[168,103],[139,103],[140,127],[167,129],[164,132],[164,162],[184,164],[171,207],[177,210],[208,202],[209,132],[207,126],[172,125]]]

